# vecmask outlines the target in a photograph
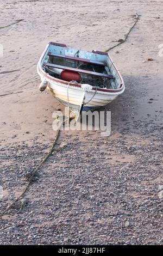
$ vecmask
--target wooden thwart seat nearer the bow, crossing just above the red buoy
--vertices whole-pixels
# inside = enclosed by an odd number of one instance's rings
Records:
[[[114,78],[112,75],[108,75],[108,74],[93,72],[93,71],[84,70],[84,69],[70,68],[68,66],[55,65],[55,64],[48,63],[48,62],[43,63],[43,65],[48,66],[50,68],[64,69],[64,70],[84,73],[84,74],[88,74],[88,75],[92,75],[92,76],[101,76],[101,77],[105,77],[105,78]]]

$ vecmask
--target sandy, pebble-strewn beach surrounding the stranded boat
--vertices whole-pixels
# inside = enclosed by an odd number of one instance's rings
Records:
[[[140,15],[128,39],[109,51],[126,86],[105,107],[111,135],[62,131],[59,150],[24,195],[26,205],[17,202],[0,220],[1,245],[163,244],[162,4],[0,0],[0,212],[55,137],[52,113],[63,107],[39,91],[36,71],[48,41],[104,51]]]

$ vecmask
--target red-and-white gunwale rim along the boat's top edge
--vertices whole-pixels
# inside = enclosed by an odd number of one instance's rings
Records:
[[[38,63],[38,65],[37,65],[37,71],[38,71],[38,73],[40,72],[43,76],[45,76],[46,78],[48,78],[49,80],[52,80],[52,81],[54,81],[54,82],[59,82],[59,83],[61,83],[61,84],[64,84],[64,85],[67,85],[67,86],[71,86],[71,87],[78,87],[78,88],[80,88],[80,89],[82,89],[82,85],[83,84],[81,84],[81,83],[78,83],[78,84],[76,84],[76,83],[70,83],[70,82],[68,82],[68,81],[64,81],[64,80],[61,80],[61,79],[59,79],[59,78],[55,78],[55,77],[53,77],[53,76],[51,76],[51,75],[49,75],[48,73],[46,73],[45,71],[43,71],[43,69],[42,69],[42,66],[41,66],[41,62],[42,62],[42,60],[43,60],[43,58],[45,57],[45,54],[47,53],[47,51],[48,51],[48,48],[49,48],[49,45],[57,45],[57,46],[61,46],[61,47],[67,47],[66,45],[64,45],[64,44],[59,44],[59,43],[55,43],[55,42],[48,42],[48,44],[47,44],[47,46],[46,46],[46,48],[45,48],[45,50],[43,51],[43,53],[42,53],[42,56],[40,57],[40,59],[39,59],[39,63]],[[96,53],[95,51],[92,51],[93,53]],[[109,53],[108,52],[101,52],[101,53],[99,53],[99,51],[97,51],[98,53],[96,53],[96,54],[105,54],[106,56],[108,56],[109,57],[109,59],[111,60],[111,65],[113,65],[114,66],[114,68],[116,69],[116,75],[118,75],[119,77],[120,77],[120,80],[121,80],[121,84],[120,84],[120,87],[118,88],[118,89],[104,89],[104,88],[98,88],[98,87],[92,87],[92,90],[95,92],[104,92],[104,93],[114,93],[114,94],[117,94],[117,95],[119,95],[120,94],[120,92],[124,92],[124,89],[125,89],[125,87],[124,87],[124,81],[123,81],[123,78],[122,78],[122,76],[121,76],[121,74],[120,74],[120,72],[117,70],[117,67],[116,67],[116,65],[115,65],[115,63],[114,62],[112,62],[112,59],[111,59],[111,57],[110,57],[110,55],[109,55]]]

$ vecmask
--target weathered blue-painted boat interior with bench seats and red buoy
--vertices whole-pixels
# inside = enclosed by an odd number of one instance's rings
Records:
[[[106,53],[86,52],[56,43],[49,45],[42,60],[42,67],[49,75],[68,82],[109,89],[114,81]]]

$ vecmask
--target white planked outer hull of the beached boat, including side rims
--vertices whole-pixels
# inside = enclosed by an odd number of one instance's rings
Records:
[[[41,81],[45,80],[48,82],[47,89],[53,94],[53,96],[62,102],[64,105],[68,105],[72,111],[73,109],[79,110],[83,104],[83,110],[96,109],[103,107],[115,100],[116,97],[124,92],[124,83],[120,73],[115,68],[115,65],[112,63],[112,68],[115,69],[115,73],[119,76],[121,82],[121,89],[97,89],[95,90],[93,86],[90,86],[92,89],[84,89],[82,85],[78,86],[71,82],[65,82],[58,78],[54,78],[49,74],[45,73],[42,69],[42,62],[45,54],[48,51],[48,45],[43,52],[40,61],[37,65],[37,72],[41,78]],[[112,60],[109,57],[110,63]],[[71,83],[71,84],[70,84]],[[88,85],[89,86],[89,85]]]

